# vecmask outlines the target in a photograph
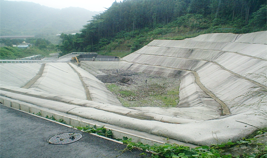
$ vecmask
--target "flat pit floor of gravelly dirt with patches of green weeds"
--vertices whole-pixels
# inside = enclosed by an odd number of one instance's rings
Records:
[[[99,70],[97,76],[125,107],[176,107],[179,102],[178,78],[152,76],[130,70]]]

